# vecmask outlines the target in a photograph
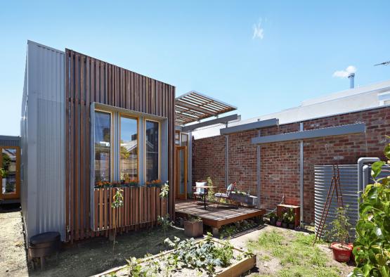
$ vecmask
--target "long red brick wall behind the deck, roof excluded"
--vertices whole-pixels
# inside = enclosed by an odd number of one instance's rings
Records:
[[[390,134],[390,108],[377,108],[304,121],[304,130],[364,122],[366,134],[304,140],[304,221],[314,221],[314,165],[356,164],[359,157],[381,157]],[[299,131],[299,123],[261,129],[261,136]],[[228,137],[229,181],[256,195],[256,146],[258,131]],[[193,141],[193,180],[211,176],[225,186],[226,138],[214,136]],[[273,209],[285,202],[299,205],[299,141],[261,145],[261,207]]]

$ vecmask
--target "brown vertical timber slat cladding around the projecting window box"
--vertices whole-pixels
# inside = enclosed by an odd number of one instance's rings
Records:
[[[65,226],[66,240],[73,241],[103,234],[90,226],[91,103],[167,117],[168,179],[172,188],[175,87],[69,49],[65,50],[65,72]],[[169,193],[168,211],[174,217],[173,193]],[[143,212],[138,215],[143,216]],[[143,224],[129,220],[134,226]]]

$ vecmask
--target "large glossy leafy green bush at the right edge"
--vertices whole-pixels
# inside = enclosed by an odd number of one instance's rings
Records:
[[[390,144],[384,155],[390,160]],[[378,178],[389,168],[389,161],[372,164],[374,183],[366,186],[359,206],[353,276],[390,276],[390,177]]]

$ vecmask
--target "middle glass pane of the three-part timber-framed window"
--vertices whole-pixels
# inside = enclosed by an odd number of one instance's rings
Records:
[[[120,178],[129,183],[138,181],[138,129],[137,120],[121,117]]]

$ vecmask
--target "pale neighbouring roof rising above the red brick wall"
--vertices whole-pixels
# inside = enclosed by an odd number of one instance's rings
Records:
[[[368,110],[384,105],[390,105],[390,80],[308,99],[302,101],[301,105],[294,108],[240,120],[239,122],[230,122],[228,127],[273,118],[278,119],[279,124],[287,124],[319,117],[341,115],[348,112],[358,112],[359,110]],[[195,139],[218,136],[220,134],[219,129],[225,127],[219,125],[207,129],[198,129],[193,131],[193,136]]]

